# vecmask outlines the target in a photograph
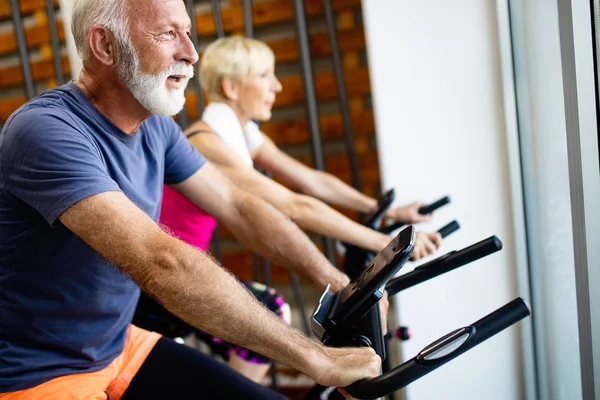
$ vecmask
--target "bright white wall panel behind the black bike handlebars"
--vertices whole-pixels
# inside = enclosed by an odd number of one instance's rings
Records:
[[[368,0],[363,14],[384,187],[398,203],[452,197],[428,226],[459,220],[442,253],[493,234],[504,243],[400,296],[400,319],[414,330],[406,359],[518,295],[496,4]],[[408,397],[524,398],[520,343],[518,327],[504,331],[410,385]]]

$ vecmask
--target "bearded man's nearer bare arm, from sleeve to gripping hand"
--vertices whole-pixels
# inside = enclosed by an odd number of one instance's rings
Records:
[[[377,373],[372,352],[326,349],[289,327],[209,256],[163,232],[120,192],[90,196],[60,220],[197,328],[296,368],[321,384],[344,386]],[[336,372],[333,376],[330,369]]]

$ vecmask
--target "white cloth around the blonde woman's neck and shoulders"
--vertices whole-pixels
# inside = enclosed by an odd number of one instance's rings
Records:
[[[250,152],[260,147],[264,137],[254,121],[242,129],[235,111],[225,103],[210,103],[202,113],[202,121],[248,165],[254,165]]]

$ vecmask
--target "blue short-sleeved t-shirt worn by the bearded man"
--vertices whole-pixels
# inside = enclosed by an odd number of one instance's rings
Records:
[[[172,118],[126,134],[74,83],[11,116],[0,134],[0,392],[100,370],[123,350],[139,289],[61,213],[121,191],[156,221],[163,183],[204,162]]]

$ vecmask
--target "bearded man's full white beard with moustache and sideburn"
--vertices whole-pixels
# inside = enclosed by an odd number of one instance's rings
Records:
[[[152,114],[171,116],[179,113],[185,104],[185,87],[194,76],[194,67],[179,62],[156,75],[146,74],[141,71],[137,52],[131,42],[120,47],[119,76],[133,97]],[[167,79],[172,75],[185,76],[180,89],[167,89]]]

